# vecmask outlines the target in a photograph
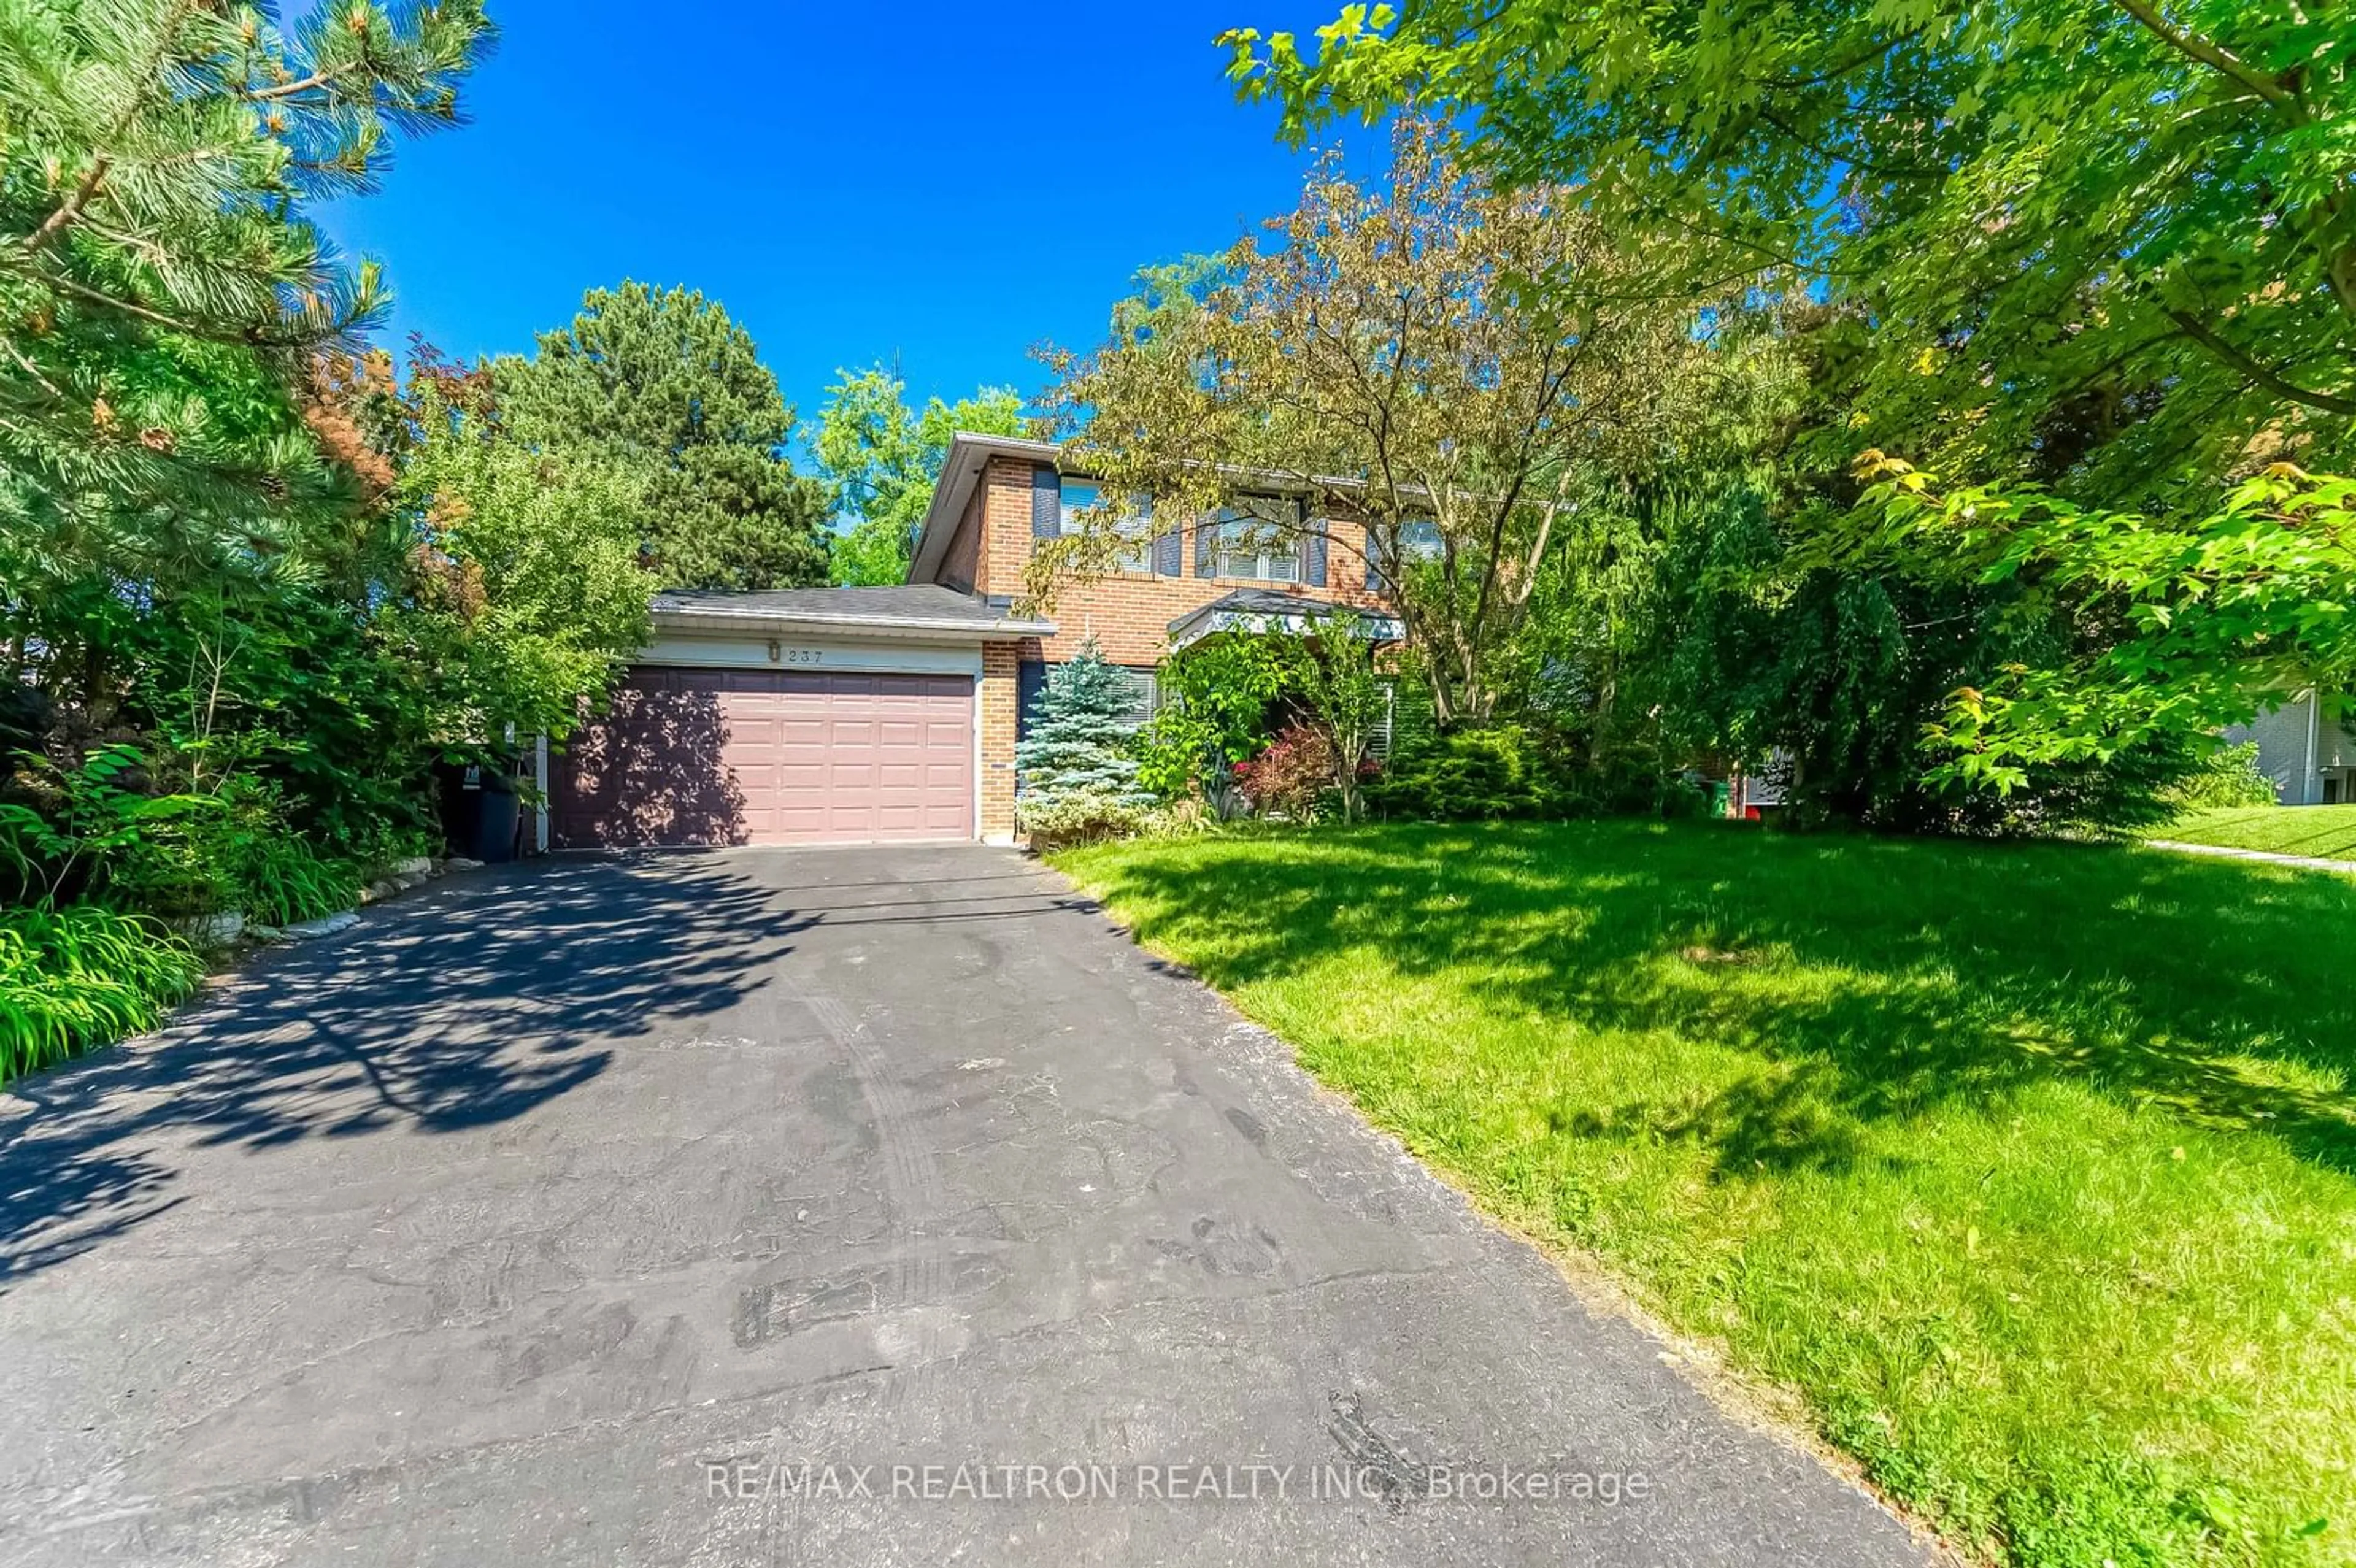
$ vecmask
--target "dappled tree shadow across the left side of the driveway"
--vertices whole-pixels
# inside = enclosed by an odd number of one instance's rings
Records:
[[[806,925],[726,859],[563,859],[262,954],[160,1034],[0,1095],[0,1293],[181,1203],[191,1151],[514,1121],[763,986]]]

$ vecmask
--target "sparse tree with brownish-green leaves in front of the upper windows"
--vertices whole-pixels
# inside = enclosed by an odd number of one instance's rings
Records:
[[[1741,297],[1652,285],[1673,233],[1633,259],[1586,193],[1503,193],[1430,120],[1402,120],[1378,181],[1319,160],[1265,231],[1152,278],[1093,353],[1048,356],[1067,466],[1152,497],[1164,532],[1230,506],[1270,549],[1322,539],[1341,582],[1374,565],[1442,725],[1496,711],[1534,574],[1597,553],[1581,499],[1600,476],[1741,447],[1793,396]],[[1032,551],[1041,600],[1136,549],[1105,513]]]

